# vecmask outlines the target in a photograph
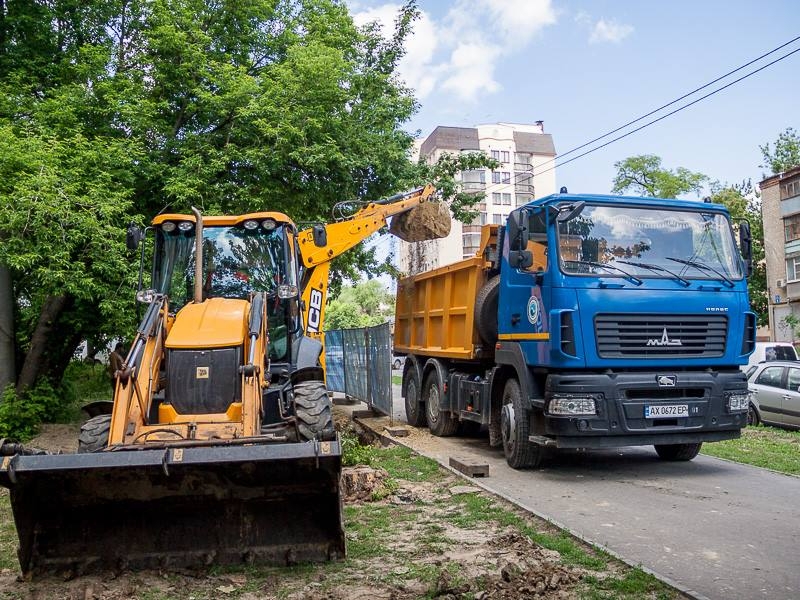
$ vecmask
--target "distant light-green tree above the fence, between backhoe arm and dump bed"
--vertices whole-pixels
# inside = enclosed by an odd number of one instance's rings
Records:
[[[394,316],[394,296],[377,279],[345,286],[328,304],[325,329],[369,327],[390,321]]]

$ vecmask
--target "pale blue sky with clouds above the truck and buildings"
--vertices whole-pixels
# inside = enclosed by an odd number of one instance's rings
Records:
[[[359,23],[378,19],[391,26],[399,2],[349,0],[348,5]],[[800,35],[797,0],[419,0],[418,5],[422,19],[401,66],[421,103],[408,129],[424,137],[437,125],[542,120],[560,153]],[[800,40],[714,88],[797,48]],[[757,183],[765,174],[759,145],[773,143],[787,127],[800,131],[800,52],[558,167],[557,185],[607,193],[614,163],[637,154],[656,154],[666,168],[685,167],[713,180]]]

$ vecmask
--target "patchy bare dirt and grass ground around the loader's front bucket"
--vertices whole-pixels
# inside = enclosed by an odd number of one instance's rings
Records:
[[[341,418],[337,421],[340,427],[348,426]],[[31,445],[70,452],[76,448],[77,434],[78,427],[48,426]],[[565,565],[558,552],[535,544],[519,528],[496,520],[460,521],[466,503],[482,499],[527,519],[538,531],[553,530],[444,471],[431,481],[406,481],[390,478],[382,469],[348,467],[343,481],[349,553],[345,561],[286,568],[105,573],[34,582],[18,577],[13,523],[3,490],[0,565],[6,568],[0,569],[0,599],[566,599],[585,597],[587,574],[603,579],[627,569],[613,561],[600,572]]]

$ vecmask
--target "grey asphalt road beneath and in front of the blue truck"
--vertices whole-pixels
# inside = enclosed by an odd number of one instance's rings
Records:
[[[487,438],[409,439],[442,464],[483,459],[490,476],[476,482],[698,596],[800,598],[798,477],[703,455],[663,462],[652,447],[551,451],[544,468],[516,471]]]

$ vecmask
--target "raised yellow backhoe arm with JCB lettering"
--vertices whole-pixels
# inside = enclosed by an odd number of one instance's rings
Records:
[[[371,202],[349,219],[304,229],[298,235],[306,268],[303,281],[306,334],[321,337],[328,296],[330,262],[386,225],[387,219],[416,208],[435,193],[431,184]]]

